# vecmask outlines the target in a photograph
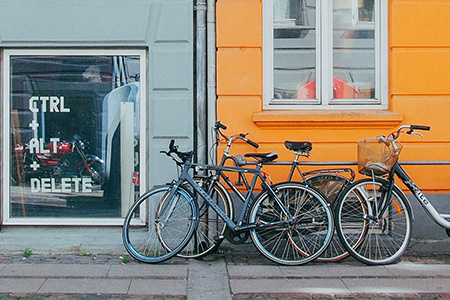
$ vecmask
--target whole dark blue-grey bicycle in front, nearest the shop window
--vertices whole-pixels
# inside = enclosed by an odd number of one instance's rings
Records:
[[[186,246],[196,229],[199,209],[194,190],[232,232],[249,231],[255,247],[268,259],[300,265],[317,258],[331,241],[334,222],[325,197],[313,187],[286,182],[272,189],[261,168],[278,158],[275,152],[247,154],[255,168],[202,165],[192,162],[193,152],[181,152],[172,140],[164,152],[181,166],[170,185],[143,195],[127,213],[122,230],[124,246],[135,259],[147,263],[167,260]],[[192,168],[253,174],[250,190],[234,222],[189,174]],[[263,191],[252,197],[256,182]],[[186,188],[186,185],[189,188]]]

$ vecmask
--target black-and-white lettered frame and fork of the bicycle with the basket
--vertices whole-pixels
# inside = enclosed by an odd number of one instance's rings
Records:
[[[394,175],[397,177],[408,187],[414,197],[419,201],[422,208],[427,212],[430,218],[436,222],[439,226],[450,229],[450,215],[439,213],[436,208],[431,204],[428,198],[423,194],[423,192],[417,187],[417,185],[412,181],[412,179],[408,176],[406,171],[402,168],[402,166],[396,162],[391,172],[389,173],[388,181],[389,186],[386,192],[386,195],[382,195],[383,203],[381,205],[382,209],[378,214],[377,218],[381,218],[383,213],[386,211],[389,201],[387,199],[391,199],[392,190],[394,188]]]

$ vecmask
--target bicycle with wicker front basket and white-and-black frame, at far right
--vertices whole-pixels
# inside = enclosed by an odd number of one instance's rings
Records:
[[[398,177],[422,208],[450,237],[450,215],[440,214],[398,162],[401,133],[422,136],[429,126],[403,125],[388,137],[358,143],[358,169],[364,178],[348,186],[337,200],[336,229],[346,250],[367,265],[395,263],[411,239],[412,208],[395,184]],[[381,176],[387,175],[387,178]]]

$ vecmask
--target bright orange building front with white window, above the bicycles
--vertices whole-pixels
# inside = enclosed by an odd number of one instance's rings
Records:
[[[429,125],[422,138],[403,137],[401,160],[449,161],[449,10],[442,1],[219,0],[217,118],[286,161],[285,140],[311,141],[309,160],[356,161],[359,140]],[[427,192],[450,191],[448,170],[408,167]]]

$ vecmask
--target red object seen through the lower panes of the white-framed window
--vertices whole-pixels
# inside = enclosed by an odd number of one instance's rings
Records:
[[[297,89],[297,99],[315,99],[316,81],[302,82]],[[340,77],[333,79],[334,99],[358,99],[361,98],[359,90]]]

